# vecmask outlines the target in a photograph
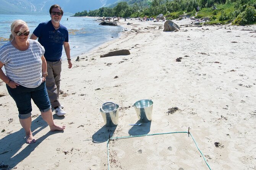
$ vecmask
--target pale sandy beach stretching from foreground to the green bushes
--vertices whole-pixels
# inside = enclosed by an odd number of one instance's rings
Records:
[[[127,22],[132,24],[127,25]],[[62,64],[60,101],[66,125],[50,132],[33,103],[26,144],[18,109],[0,82],[0,168],[17,170],[255,170],[256,25],[201,26],[121,19],[122,35],[92,51],[81,51],[73,68]],[[103,35],[104,36],[104,35]],[[127,49],[130,55],[100,58]],[[83,53],[83,54],[82,54]],[[177,59],[180,58],[178,62]],[[106,127],[102,101],[117,103],[116,127]],[[133,104],[151,99],[152,121],[140,126]],[[110,137],[169,132],[109,141]]]

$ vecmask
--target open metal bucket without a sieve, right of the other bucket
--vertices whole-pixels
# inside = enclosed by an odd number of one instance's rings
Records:
[[[151,99],[142,99],[133,104],[140,122],[149,122],[152,120],[153,102]]]

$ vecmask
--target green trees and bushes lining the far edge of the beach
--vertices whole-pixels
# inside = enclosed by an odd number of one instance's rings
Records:
[[[146,15],[155,18],[159,14],[164,14],[166,19],[181,16],[208,18],[209,24],[256,24],[256,0],[126,0],[112,7],[78,12],[74,16],[137,18]]]

